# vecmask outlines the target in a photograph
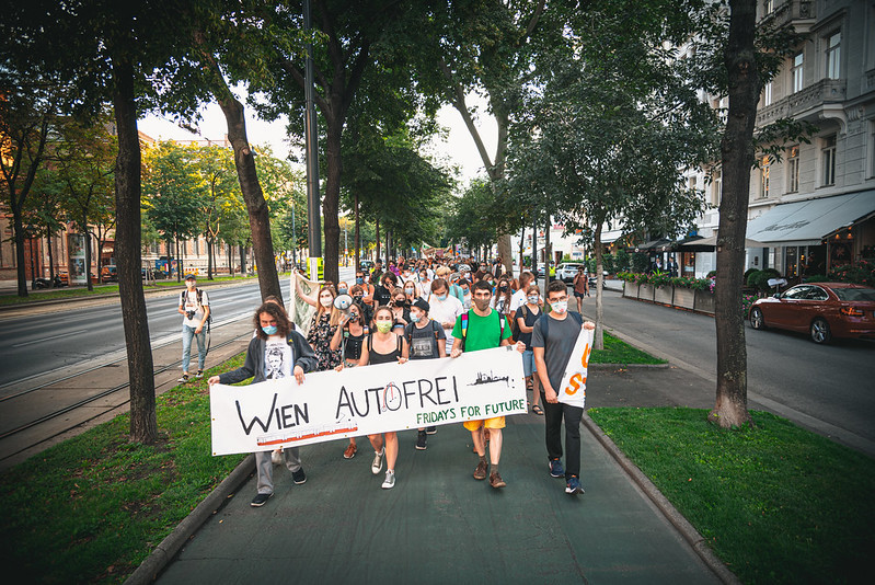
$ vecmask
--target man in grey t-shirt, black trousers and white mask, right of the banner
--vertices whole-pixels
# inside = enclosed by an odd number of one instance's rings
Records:
[[[534,323],[532,349],[537,374],[541,379],[550,475],[565,478],[565,493],[577,495],[584,493],[584,489],[580,486],[580,418],[584,415],[585,368],[589,360],[588,349],[590,346],[587,346],[587,351],[580,352],[584,360],[584,376],[578,378],[573,389],[563,390],[563,388],[565,388],[566,369],[569,367],[569,362],[578,345],[582,330],[595,330],[596,324],[591,321],[584,323],[580,313],[568,312],[568,289],[562,280],[552,280],[548,285],[546,301],[550,303],[551,311]],[[575,357],[578,356],[575,355]],[[559,395],[560,392],[563,393],[562,397]],[[574,399],[568,400],[568,395]],[[565,469],[562,467],[563,418],[565,418]]]

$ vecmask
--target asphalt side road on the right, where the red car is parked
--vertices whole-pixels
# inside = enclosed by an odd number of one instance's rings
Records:
[[[587,298],[584,313],[595,312],[595,297]],[[712,317],[625,299],[608,290],[605,325],[652,353],[664,354],[672,365],[700,374],[702,391],[714,395],[716,333]],[[745,334],[751,408],[764,405],[805,426],[813,426],[806,424],[810,416],[837,432],[875,441],[875,342],[837,340],[821,346],[806,335],[755,331],[749,324]],[[830,434],[829,427],[826,431]]]

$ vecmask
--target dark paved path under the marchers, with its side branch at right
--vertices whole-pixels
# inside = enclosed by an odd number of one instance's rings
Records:
[[[707,406],[696,380],[677,368],[594,370],[588,405]],[[587,493],[575,498],[548,473],[543,417],[507,423],[500,491],[471,477],[476,456],[461,425],[438,427],[426,451],[413,448],[414,431],[400,433],[391,491],[370,472],[366,438],[352,460],[343,441],[303,447],[306,484],[278,468],[274,497],[253,508],[250,477],[159,582],[721,582],[693,550],[695,535],[684,538],[588,427]]]

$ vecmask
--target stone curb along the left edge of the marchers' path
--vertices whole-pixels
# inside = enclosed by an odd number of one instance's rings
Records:
[[[162,540],[131,573],[125,585],[153,583],[207,519],[234,495],[255,470],[255,455],[250,454]]]

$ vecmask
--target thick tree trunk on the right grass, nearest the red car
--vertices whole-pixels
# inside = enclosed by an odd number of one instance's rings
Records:
[[[760,79],[753,45],[755,0],[730,0],[729,41],[724,62],[729,76],[729,115],[721,142],[723,199],[717,237],[714,323],[717,333],[717,398],[709,420],[724,428],[750,422],[747,411],[747,346],[741,314],[745,234],[753,165],[753,127]]]

